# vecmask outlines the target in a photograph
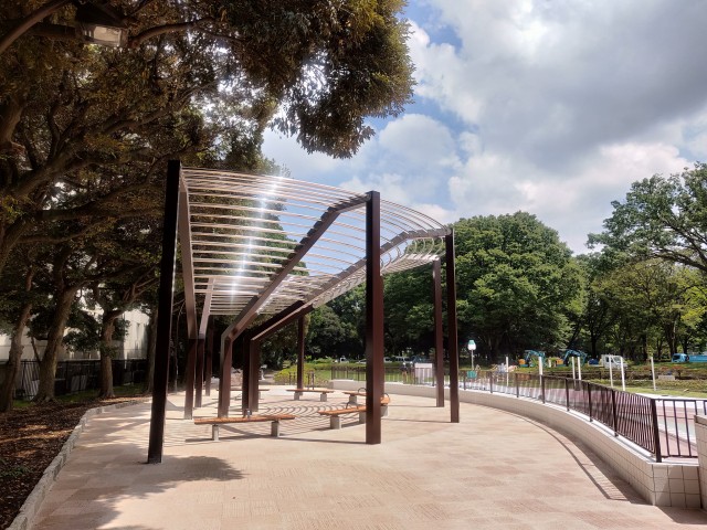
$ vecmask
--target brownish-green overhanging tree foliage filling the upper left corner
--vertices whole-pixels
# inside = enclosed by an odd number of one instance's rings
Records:
[[[411,94],[399,0],[112,7],[127,49],[46,36],[39,22],[72,24],[73,2],[0,10],[0,273],[29,226],[103,211],[97,198],[48,208],[57,186],[84,186],[87,170],[136,163],[141,186],[156,187],[148,176],[168,158],[218,149],[234,125],[257,138],[268,123],[307,150],[346,157],[372,135],[367,117],[400,113]]]

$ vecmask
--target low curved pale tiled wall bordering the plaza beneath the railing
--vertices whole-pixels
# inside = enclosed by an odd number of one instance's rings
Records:
[[[331,386],[336,390],[357,390],[363,384],[361,381],[331,381]],[[386,383],[386,392],[430,399],[436,396],[435,389],[432,386],[401,383]],[[445,390],[445,396],[446,399],[450,396],[449,389]],[[663,462],[658,464],[652,455],[641,447],[615,437],[613,431],[608,427],[589,422],[585,416],[569,413],[556,405],[544,405],[538,401],[525,398],[475,390],[460,390],[460,401],[490,406],[537,420],[555,431],[581,439],[621,478],[631,484],[639,495],[654,506],[707,507],[707,418],[700,418],[699,423],[703,428],[701,445],[698,436],[699,466],[695,462]],[[701,497],[700,476],[703,477]]]

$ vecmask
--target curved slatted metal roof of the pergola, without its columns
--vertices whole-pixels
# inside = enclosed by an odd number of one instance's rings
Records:
[[[182,168],[184,287],[203,316],[317,307],[366,280],[368,194],[284,177]],[[381,201],[383,274],[431,263],[450,229]],[[184,247],[186,246],[186,247]]]

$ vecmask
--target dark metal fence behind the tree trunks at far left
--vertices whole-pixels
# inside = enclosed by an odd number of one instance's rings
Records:
[[[146,359],[113,360],[113,384],[139,384],[145,381],[147,373]],[[40,379],[40,363],[38,361],[22,361],[22,367],[14,384],[15,399],[31,400],[36,394]],[[60,361],[54,375],[54,394],[65,395],[83,390],[98,390],[101,388],[101,361],[80,360]]]

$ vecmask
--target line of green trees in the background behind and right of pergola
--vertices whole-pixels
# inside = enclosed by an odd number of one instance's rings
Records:
[[[525,212],[454,223],[460,347],[488,363],[524,350],[642,361],[707,347],[707,166],[633,183],[613,202],[594,252],[573,256]],[[432,276],[384,278],[386,351],[434,353]],[[362,292],[312,316],[316,357],[362,357]]]

